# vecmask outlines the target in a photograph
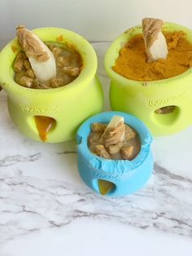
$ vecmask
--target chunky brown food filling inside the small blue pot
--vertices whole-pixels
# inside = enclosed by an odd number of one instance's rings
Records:
[[[91,152],[106,159],[133,160],[141,143],[137,131],[120,122],[117,126],[94,123],[88,138]]]

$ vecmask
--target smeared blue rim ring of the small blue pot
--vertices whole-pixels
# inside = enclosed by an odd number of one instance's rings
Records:
[[[140,152],[137,154],[137,157],[135,157],[132,161],[120,159],[105,159],[103,157],[96,156],[93,152],[89,150],[87,139],[90,133],[90,125],[93,122],[98,121],[108,122],[111,120],[111,117],[115,115],[124,117],[124,123],[132,126],[139,135],[141,149]],[[142,166],[143,161],[146,160],[146,157],[151,150],[150,147],[153,140],[150,131],[140,119],[134,117],[129,113],[117,111],[99,113],[97,115],[94,115],[93,117],[89,117],[77,130],[76,139],[78,144],[78,154],[80,154],[81,157],[84,157],[85,161],[87,161],[89,165],[92,166],[92,168],[94,168],[95,170],[102,169],[107,173],[119,174],[126,174],[132,170],[136,170],[139,166]]]

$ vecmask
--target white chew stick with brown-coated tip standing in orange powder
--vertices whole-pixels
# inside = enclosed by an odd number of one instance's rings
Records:
[[[143,38],[146,46],[147,61],[166,59],[168,46],[161,32],[163,20],[145,18],[142,20]]]

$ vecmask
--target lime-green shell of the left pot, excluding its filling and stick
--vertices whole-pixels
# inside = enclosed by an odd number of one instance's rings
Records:
[[[12,40],[0,54],[0,83],[7,90],[9,113],[15,126],[29,138],[40,141],[33,118],[38,115],[56,120],[47,142],[73,139],[78,126],[103,108],[102,86],[95,77],[97,56],[89,42],[72,31],[41,28],[33,32],[44,42],[56,42],[59,38],[63,43],[75,46],[82,56],[83,68],[79,77],[67,86],[49,90],[25,88],[14,82],[12,64],[20,46],[17,39]]]

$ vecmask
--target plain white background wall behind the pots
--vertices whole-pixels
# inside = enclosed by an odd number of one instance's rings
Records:
[[[89,41],[110,41],[145,16],[192,29],[192,0],[0,0],[0,46],[15,27],[72,29]]]

